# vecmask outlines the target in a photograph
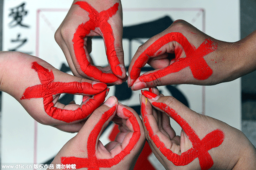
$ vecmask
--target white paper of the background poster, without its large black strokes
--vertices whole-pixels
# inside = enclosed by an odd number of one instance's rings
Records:
[[[23,23],[29,28],[16,26],[10,28],[9,17],[11,8],[25,2],[28,14],[23,17]],[[64,2],[64,3],[63,3]],[[3,11],[3,50],[8,51],[15,45],[11,42],[20,34],[20,38],[28,41],[18,51],[31,52],[55,68],[60,69],[61,64],[67,62],[64,54],[54,40],[54,33],[61,24],[72,1],[65,0],[5,0]],[[228,42],[235,42],[240,37],[239,0],[222,1],[214,3],[207,0],[129,0],[122,1],[123,25],[133,26],[150,22],[163,16],[172,20],[183,19],[191,23],[206,34]],[[227,24],[228,23],[228,24]],[[123,40],[125,52],[125,65],[129,64],[129,53],[133,55],[141,42],[147,39],[131,41]],[[92,56],[98,65],[106,65],[105,49],[102,39],[93,40]],[[104,56],[100,59],[96,56]],[[102,59],[103,58],[103,59]],[[223,83],[215,86],[178,85],[177,88],[186,96],[189,106],[198,113],[220,119],[227,124],[241,129],[241,80]],[[163,94],[171,95],[166,87],[159,88]],[[112,87],[108,96],[113,95]],[[129,106],[139,104],[140,91],[132,92],[131,98],[122,103]],[[79,99],[77,99],[79,100]],[[43,163],[61,149],[61,147],[75,134],[61,132],[53,127],[35,122],[22,106],[6,93],[3,93],[2,107],[2,146],[1,164]],[[174,123],[174,122],[172,122]],[[175,129],[180,130],[177,125]],[[102,136],[102,142],[108,142],[109,130]],[[151,163],[154,157],[148,158]],[[153,165],[157,163],[152,163]],[[162,167],[158,167],[161,169]]]

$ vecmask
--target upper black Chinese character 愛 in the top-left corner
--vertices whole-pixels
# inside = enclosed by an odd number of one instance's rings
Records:
[[[28,25],[22,23],[23,17],[28,13],[28,11],[24,9],[25,5],[25,3],[22,3],[21,5],[10,9],[11,13],[9,14],[9,17],[13,18],[13,20],[9,23],[11,28],[18,25],[21,27],[29,28]]]

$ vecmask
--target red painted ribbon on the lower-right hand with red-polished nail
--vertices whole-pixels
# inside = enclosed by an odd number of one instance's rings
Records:
[[[187,165],[194,159],[198,158],[202,170],[208,170],[210,167],[212,167],[213,160],[209,155],[208,150],[212,149],[213,147],[218,147],[224,141],[224,133],[221,130],[216,129],[211,133],[208,133],[202,140],[200,140],[198,135],[195,133],[195,130],[193,130],[192,127],[190,127],[190,125],[182,117],[180,117],[180,115],[178,115],[175,110],[164,103],[153,102],[152,105],[169,114],[169,116],[171,116],[172,119],[174,119],[182,127],[193,145],[191,149],[181,153],[181,155],[173,153],[172,150],[166,148],[164,143],[160,141],[159,137],[154,135],[153,130],[148,122],[145,104],[142,103],[141,112],[143,121],[148,130],[150,138],[159,148],[161,153],[163,153],[163,155],[166,156],[169,161],[172,161],[172,163],[176,166]]]

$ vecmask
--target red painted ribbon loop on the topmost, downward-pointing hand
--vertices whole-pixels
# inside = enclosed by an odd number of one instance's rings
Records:
[[[122,76],[121,68],[118,66],[120,64],[114,47],[114,37],[113,30],[111,25],[108,23],[108,19],[116,14],[118,10],[119,3],[115,3],[114,6],[109,8],[106,11],[101,11],[100,13],[96,11],[90,4],[87,2],[76,2],[75,4],[79,5],[85,11],[89,13],[90,20],[86,23],[80,24],[76,28],[76,32],[73,37],[73,46],[76,55],[77,62],[80,65],[81,70],[89,77],[99,80],[100,82],[112,83],[116,82],[118,78],[114,75]],[[103,39],[106,46],[106,54],[108,57],[111,70],[114,74],[103,73],[101,70],[96,68],[94,65],[88,61],[87,52],[84,50],[84,37],[86,37],[91,30],[99,28],[103,34]]]

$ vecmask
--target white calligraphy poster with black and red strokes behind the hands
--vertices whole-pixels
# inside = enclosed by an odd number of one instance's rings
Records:
[[[131,58],[140,45],[168,28],[177,19],[186,20],[218,40],[239,40],[239,0],[230,2],[218,0],[212,4],[204,0],[159,0],[151,3],[148,3],[148,0],[122,1],[125,67],[128,69]],[[30,54],[44,59],[63,72],[72,74],[61,48],[54,40],[55,31],[64,20],[71,4],[71,0],[66,0],[65,3],[57,0],[5,0],[3,51]],[[94,37],[92,41],[90,55],[95,65],[108,65],[102,37]],[[149,70],[150,66],[146,65],[142,73]],[[168,85],[158,88],[164,95],[174,96],[198,113],[212,116],[241,129],[240,81],[236,79],[214,86]],[[139,94],[140,91],[131,91],[127,82],[124,82],[122,85],[111,86],[107,98],[116,96],[119,102],[140,114]],[[82,97],[70,94],[62,94],[60,97],[64,104],[73,100],[79,103]],[[179,134],[181,128],[174,121],[171,123]],[[114,139],[118,132],[116,128],[116,125],[111,123],[105,129],[100,137],[103,144]],[[61,147],[75,135],[39,124],[19,102],[9,94],[3,93],[0,147],[2,165],[29,164],[32,165],[31,169],[40,169],[49,164]],[[143,164],[137,163],[135,169],[164,169],[148,144],[145,144],[138,162]]]

